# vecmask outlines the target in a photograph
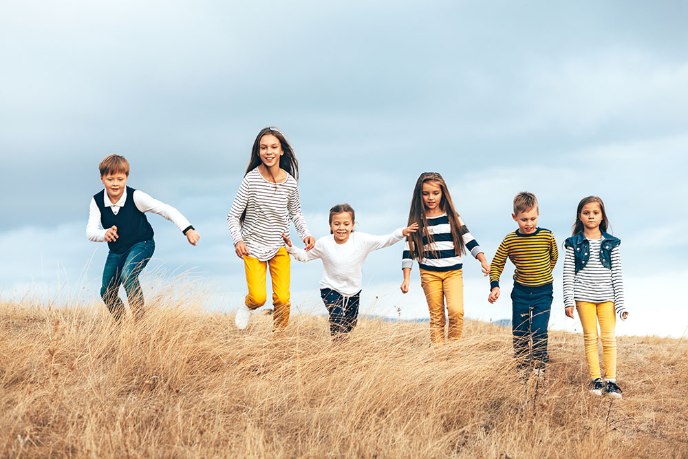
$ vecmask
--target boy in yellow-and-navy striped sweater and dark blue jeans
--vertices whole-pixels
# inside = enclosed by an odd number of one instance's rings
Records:
[[[518,193],[511,214],[518,229],[504,237],[492,259],[488,301],[494,303],[499,298],[499,276],[508,257],[516,267],[511,290],[514,356],[519,370],[533,364],[538,374],[543,375],[544,363],[549,361],[547,324],[552,308],[552,268],[559,253],[552,231],[537,227],[538,216],[535,195]],[[531,337],[532,354],[528,346]]]

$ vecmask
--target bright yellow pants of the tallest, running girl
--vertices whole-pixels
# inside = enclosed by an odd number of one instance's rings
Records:
[[[246,284],[248,285],[248,295],[246,295],[246,306],[248,309],[257,309],[265,304],[268,294],[266,292],[265,279],[266,268],[270,268],[270,279],[272,280],[272,306],[275,311],[272,313],[272,323],[275,328],[285,328],[289,323],[289,280],[290,280],[290,261],[287,249],[282,247],[277,250],[274,257],[268,261],[259,261],[254,257],[244,257],[244,268],[246,269]]]

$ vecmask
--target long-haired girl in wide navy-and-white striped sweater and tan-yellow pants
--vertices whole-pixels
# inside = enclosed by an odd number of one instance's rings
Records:
[[[487,275],[490,265],[475,237],[469,233],[461,216],[454,210],[447,184],[436,172],[420,174],[413,189],[409,225],[418,223],[421,231],[411,233],[404,247],[401,267],[404,281],[401,291],[409,291],[413,260],[420,267],[420,285],[430,311],[430,340],[444,343],[444,299],[447,299],[449,341],[461,338],[464,328],[464,281],[461,255],[465,249],[480,261]]]

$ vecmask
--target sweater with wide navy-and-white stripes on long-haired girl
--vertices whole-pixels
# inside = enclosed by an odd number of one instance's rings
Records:
[[[477,244],[475,237],[466,228],[464,220],[461,215],[457,215],[459,224],[461,225],[461,233],[466,244],[466,249],[471,251],[473,257],[482,253],[482,248]],[[429,243],[425,230],[422,230],[423,237],[423,258],[418,263],[421,269],[429,271],[451,271],[462,268],[461,254],[455,253],[454,239],[451,237],[451,226],[449,224],[449,217],[443,213],[439,217],[427,219],[428,233],[433,239],[433,243]],[[413,266],[413,259],[411,259],[411,250],[409,248],[409,241],[404,244],[404,253],[401,260],[401,268],[411,268]]]

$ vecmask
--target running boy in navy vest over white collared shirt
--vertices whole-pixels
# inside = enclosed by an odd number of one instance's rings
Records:
[[[194,246],[200,235],[177,209],[127,186],[129,162],[124,156],[108,156],[100,162],[99,169],[105,189],[91,199],[86,237],[94,242],[107,241],[110,249],[103,268],[100,297],[119,321],[125,307],[118,290],[124,284],[129,308],[140,317],[143,294],[138,276],[155,250],[153,228],[145,213],[157,213],[173,222]]]

